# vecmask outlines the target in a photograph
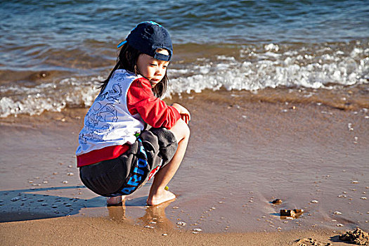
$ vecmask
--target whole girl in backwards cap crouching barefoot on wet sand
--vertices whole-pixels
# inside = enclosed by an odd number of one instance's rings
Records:
[[[131,30],[117,64],[84,118],[77,167],[84,185],[119,205],[151,179],[148,205],[176,196],[165,186],[186,152],[190,113],[160,100],[167,89],[173,47],[167,30],[141,22]],[[150,125],[149,130],[146,129]]]

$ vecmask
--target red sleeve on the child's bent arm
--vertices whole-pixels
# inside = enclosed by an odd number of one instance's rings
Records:
[[[178,110],[154,96],[151,84],[145,78],[136,79],[127,91],[127,108],[131,115],[141,115],[151,127],[171,129],[181,118]]]

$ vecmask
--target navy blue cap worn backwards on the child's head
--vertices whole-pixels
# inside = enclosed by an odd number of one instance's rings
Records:
[[[128,34],[125,41],[118,44],[117,48],[127,43],[136,48],[138,51],[145,53],[157,60],[169,61],[173,54],[173,46],[169,32],[160,24],[153,21],[145,21],[139,23]],[[158,48],[165,48],[169,52],[169,56],[157,53]]]

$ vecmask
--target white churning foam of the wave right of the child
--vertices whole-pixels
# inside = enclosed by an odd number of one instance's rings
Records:
[[[280,50],[278,45],[267,44],[259,53],[254,47],[241,50],[242,60],[232,56],[216,56],[217,63],[203,59],[203,65],[186,67],[194,74],[171,79],[170,93],[198,93],[221,87],[250,91],[278,86],[332,89],[334,84],[367,83],[369,58],[363,48],[354,48],[349,56],[342,56],[343,51],[333,52],[330,47],[319,48],[316,53],[306,47],[284,53]]]

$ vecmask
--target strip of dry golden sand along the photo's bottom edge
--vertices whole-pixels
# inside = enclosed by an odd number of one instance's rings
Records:
[[[89,217],[8,222],[0,228],[1,245],[347,245],[338,232],[323,230],[193,234]]]

